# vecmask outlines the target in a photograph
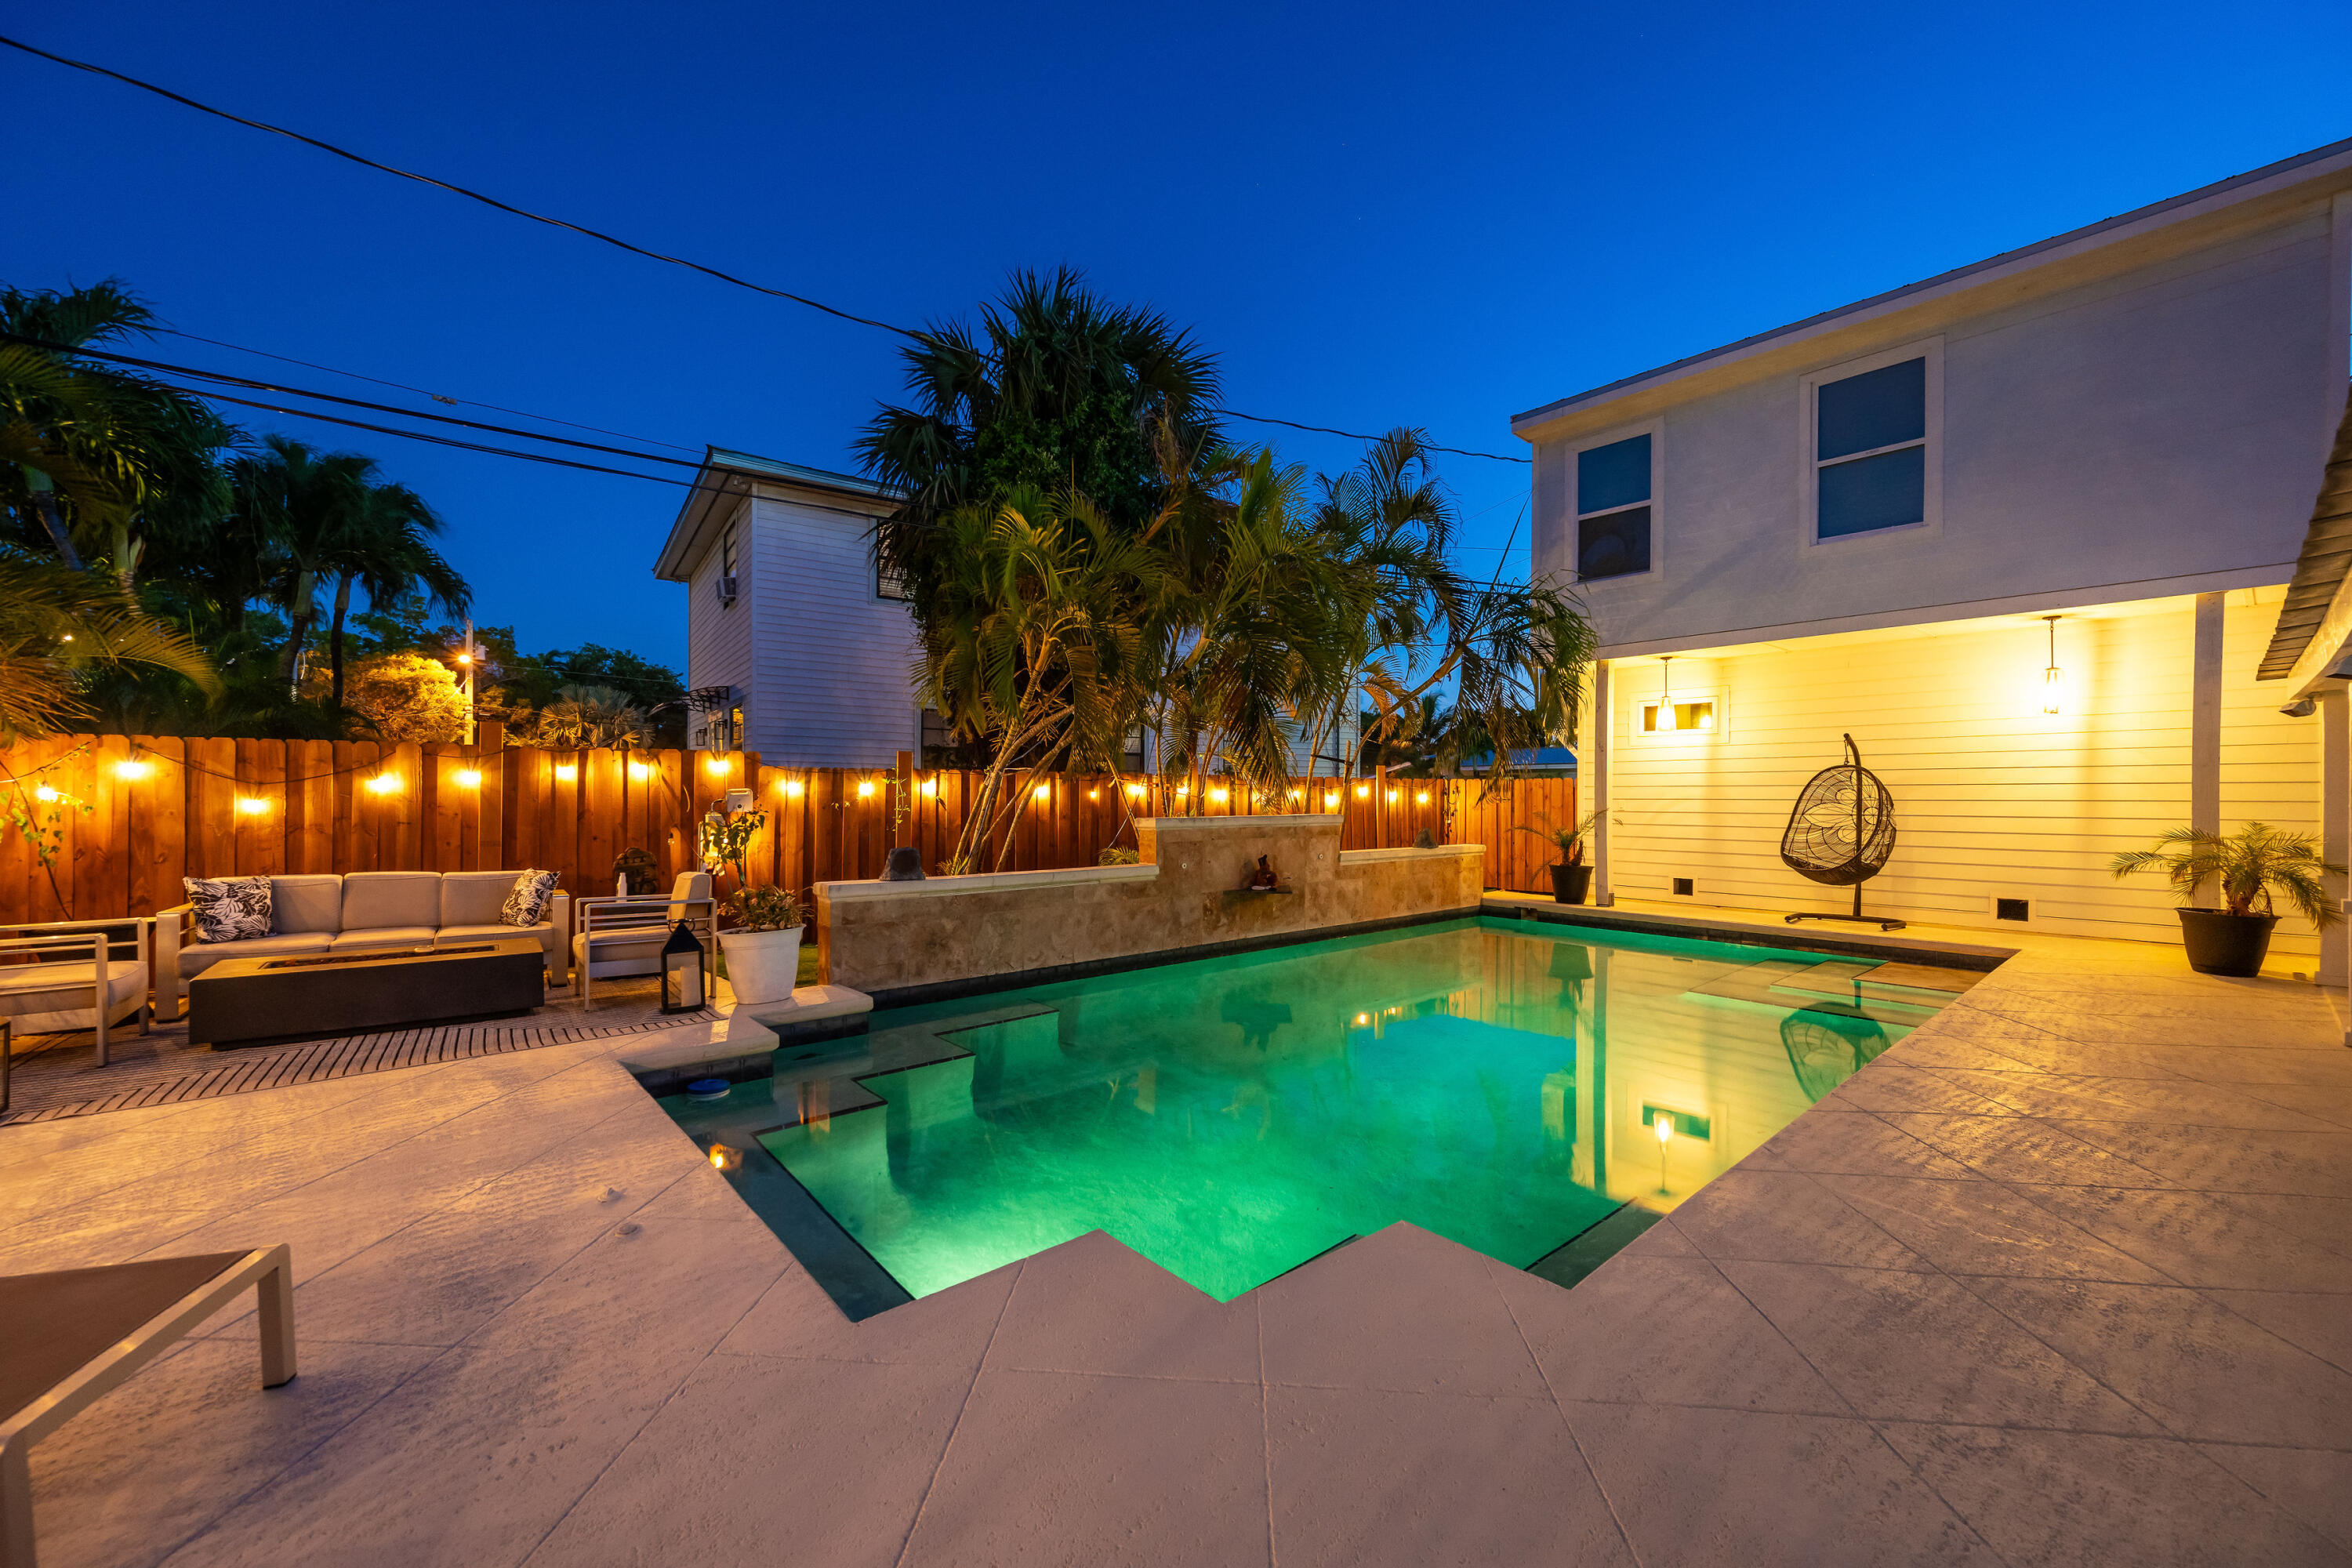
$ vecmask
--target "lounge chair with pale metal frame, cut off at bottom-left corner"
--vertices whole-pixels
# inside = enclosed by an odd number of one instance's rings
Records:
[[[294,1378],[294,1255],[280,1246],[0,1276],[0,1568],[33,1568],[33,1443],[254,1286],[261,1387]]]

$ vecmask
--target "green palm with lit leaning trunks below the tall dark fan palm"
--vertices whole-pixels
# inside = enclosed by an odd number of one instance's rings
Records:
[[[1110,527],[1084,496],[1014,489],[943,520],[938,602],[922,623],[922,701],[985,743],[981,792],[948,875],[1011,853],[1028,776],[1115,771],[1141,712],[1143,607],[1160,555]]]

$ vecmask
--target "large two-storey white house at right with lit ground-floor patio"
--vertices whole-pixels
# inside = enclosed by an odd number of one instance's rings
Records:
[[[2256,672],[2345,411],[2347,193],[2352,141],[1519,414],[1534,569],[1602,639],[1599,896],[1844,907],[1780,860],[1842,733],[1896,917],[2176,940],[2117,849],[2317,830],[2321,724]]]

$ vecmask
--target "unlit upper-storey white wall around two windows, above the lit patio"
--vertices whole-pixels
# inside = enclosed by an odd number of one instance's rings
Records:
[[[1583,590],[1604,651],[1980,616],[2002,599],[2154,597],[2211,574],[2284,581],[2343,397],[2340,266],[2312,209],[1929,329],[1943,346],[1938,529],[1804,541],[1802,371],[1668,407],[1661,567]],[[1917,331],[1893,322],[1823,364]],[[1536,571],[1573,576],[1573,451],[1637,423],[1536,447]]]

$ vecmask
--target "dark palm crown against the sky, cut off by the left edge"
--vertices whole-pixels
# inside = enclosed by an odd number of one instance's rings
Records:
[[[68,567],[80,567],[85,548],[103,548],[125,592],[153,534],[202,529],[221,510],[219,458],[235,442],[191,393],[73,355],[153,322],[113,277],[66,292],[0,289],[0,341],[12,350],[0,397],[14,437],[0,484],[19,517],[40,520]],[[61,468],[82,484],[59,489]]]

